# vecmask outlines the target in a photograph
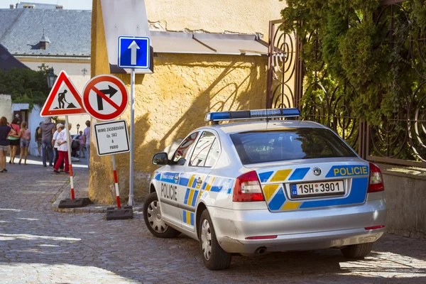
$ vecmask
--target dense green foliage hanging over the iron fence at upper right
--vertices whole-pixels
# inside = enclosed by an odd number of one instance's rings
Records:
[[[379,0],[288,0],[287,4],[281,11],[281,28],[286,33],[296,31],[302,40],[305,86],[320,82],[331,92],[350,84],[357,94],[351,98],[354,116],[373,126],[392,121],[405,107],[401,90],[416,87],[415,71],[405,66],[411,64],[410,35],[417,38],[419,28],[425,33],[426,1],[402,4],[412,19],[410,26],[403,12],[395,11],[401,21],[395,26],[393,43],[387,29],[376,23]],[[302,103],[307,107],[313,104],[310,100],[324,96],[317,87],[305,89]]]

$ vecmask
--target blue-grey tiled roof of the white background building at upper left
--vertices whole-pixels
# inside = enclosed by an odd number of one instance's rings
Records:
[[[91,26],[88,10],[0,9],[0,43],[14,55],[89,57]],[[40,50],[43,28],[50,39],[46,50]]]

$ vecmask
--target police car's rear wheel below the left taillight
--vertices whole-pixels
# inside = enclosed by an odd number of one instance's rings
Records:
[[[214,233],[212,219],[207,209],[204,209],[201,214],[198,233],[204,266],[211,271],[229,268],[231,253],[227,253],[219,246]]]

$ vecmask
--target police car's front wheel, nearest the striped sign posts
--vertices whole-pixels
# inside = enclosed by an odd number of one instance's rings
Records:
[[[160,202],[156,192],[148,195],[143,203],[143,220],[151,234],[158,238],[170,239],[180,235],[180,231],[168,226],[161,219]]]

